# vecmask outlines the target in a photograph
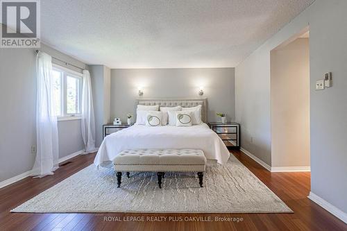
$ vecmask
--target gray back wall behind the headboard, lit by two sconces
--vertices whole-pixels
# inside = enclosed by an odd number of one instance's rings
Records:
[[[201,69],[112,69],[111,120],[120,117],[126,123],[126,114],[135,114],[135,101],[142,87],[144,98],[202,97],[208,98],[208,120],[218,121],[216,112],[235,119],[234,68]]]

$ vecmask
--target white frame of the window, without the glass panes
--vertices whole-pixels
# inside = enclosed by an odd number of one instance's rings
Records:
[[[60,115],[57,116],[58,121],[65,120],[74,120],[81,119],[81,110],[82,110],[82,87],[83,87],[83,74],[67,69],[66,67],[62,67],[60,65],[52,64],[53,71],[60,71],[62,73],[62,77],[60,80],[61,84],[61,92],[60,92]],[[67,76],[71,78],[77,78],[80,80],[80,84],[78,85],[78,109],[80,113],[67,113]]]

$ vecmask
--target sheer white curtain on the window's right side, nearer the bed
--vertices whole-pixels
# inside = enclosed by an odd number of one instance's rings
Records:
[[[95,152],[93,94],[90,73],[87,70],[83,70],[81,129],[83,142],[85,143],[85,154]]]

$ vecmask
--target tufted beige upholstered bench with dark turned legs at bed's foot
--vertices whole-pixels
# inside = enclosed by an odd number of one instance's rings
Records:
[[[130,171],[157,172],[158,185],[162,188],[165,172],[197,172],[200,187],[203,187],[203,172],[206,157],[197,149],[131,149],[124,150],[113,160],[117,172],[118,187],[122,171],[128,178]]]

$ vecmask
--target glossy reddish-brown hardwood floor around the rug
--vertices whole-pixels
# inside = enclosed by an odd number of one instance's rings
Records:
[[[294,214],[28,214],[10,213],[10,209],[49,189],[92,164],[94,154],[79,155],[61,166],[53,176],[25,178],[0,189],[0,230],[347,230],[347,225],[307,198],[310,173],[270,173],[240,151],[232,151],[257,178],[262,180],[293,211]],[[116,202],[115,202],[116,203]],[[136,222],[105,221],[105,219],[196,219],[212,217],[235,218],[242,221]]]

